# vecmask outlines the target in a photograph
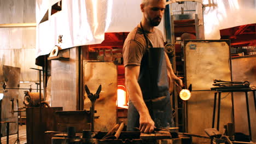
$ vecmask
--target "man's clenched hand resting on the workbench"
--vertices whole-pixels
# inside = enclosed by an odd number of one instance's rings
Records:
[[[155,128],[155,122],[152,120],[150,115],[139,116],[139,130],[142,133],[152,133]]]

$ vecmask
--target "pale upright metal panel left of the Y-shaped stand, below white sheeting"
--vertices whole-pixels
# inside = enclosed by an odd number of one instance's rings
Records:
[[[77,110],[79,64],[78,47],[67,49],[69,61],[51,61],[51,106]]]

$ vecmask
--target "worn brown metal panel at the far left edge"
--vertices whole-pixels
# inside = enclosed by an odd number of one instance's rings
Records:
[[[2,78],[2,77],[1,77]],[[17,88],[20,83],[20,68],[9,67],[3,65],[3,78],[6,82],[8,88]],[[1,121],[6,122],[16,122],[10,123],[10,132],[9,134],[16,134],[17,133],[17,124],[18,124],[18,113],[11,113],[11,99],[14,99],[14,110],[18,110],[17,106],[17,99],[19,95],[19,89],[8,89],[4,92],[4,97],[2,100],[2,116]],[[1,133],[3,136],[6,135],[6,124],[2,124]]]

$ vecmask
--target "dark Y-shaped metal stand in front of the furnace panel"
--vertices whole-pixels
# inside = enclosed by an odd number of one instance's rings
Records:
[[[101,85],[98,86],[97,92],[92,94],[87,85],[85,85],[85,92],[88,95],[88,98],[91,100],[91,131],[94,132],[94,113],[95,113],[95,101],[100,98]]]

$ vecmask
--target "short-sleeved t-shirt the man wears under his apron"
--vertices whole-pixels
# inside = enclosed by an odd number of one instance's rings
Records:
[[[154,32],[145,31],[145,34],[150,41],[148,47],[164,47],[164,37],[158,28],[154,27]],[[128,34],[124,42],[124,66],[141,65],[141,59],[147,49],[146,45],[142,29],[137,26]]]

